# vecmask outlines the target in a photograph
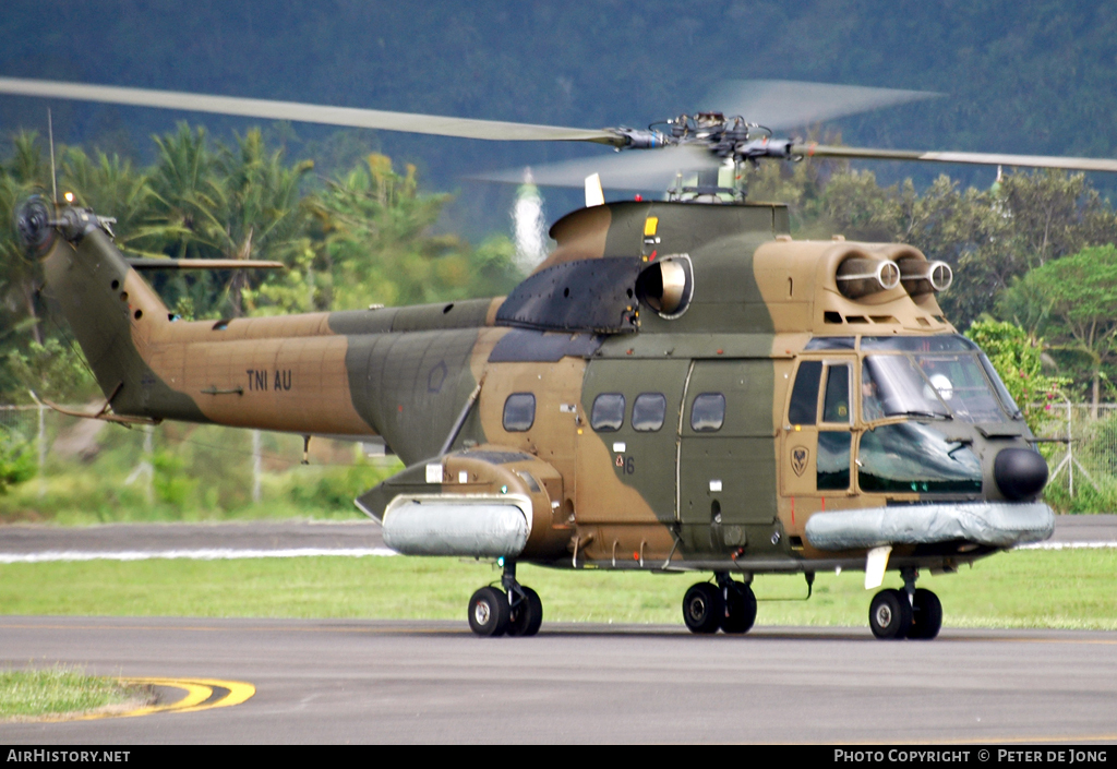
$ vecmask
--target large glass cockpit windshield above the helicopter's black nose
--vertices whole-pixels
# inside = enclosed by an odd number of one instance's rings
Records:
[[[1019,414],[977,350],[869,354],[861,371],[866,421],[913,416],[967,423],[1004,421]]]

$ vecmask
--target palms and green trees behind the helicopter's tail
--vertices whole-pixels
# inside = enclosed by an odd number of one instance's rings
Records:
[[[117,246],[144,257],[283,262],[284,270],[147,273],[181,317],[219,319],[506,293],[521,279],[505,236],[477,246],[435,225],[449,196],[419,189],[416,169],[369,152],[333,178],[288,160],[259,130],[216,142],[180,124],[153,137],[156,160],[80,146],[57,152],[58,192],[115,217]],[[34,132],[15,134],[0,163],[0,217],[49,194],[50,159]],[[40,293],[38,258],[0,228],[0,401],[75,399],[95,386],[66,324]]]

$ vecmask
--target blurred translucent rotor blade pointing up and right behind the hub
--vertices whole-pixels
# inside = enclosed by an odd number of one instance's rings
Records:
[[[741,115],[781,131],[943,95],[799,80],[729,80],[709,94],[707,104],[726,115]]]

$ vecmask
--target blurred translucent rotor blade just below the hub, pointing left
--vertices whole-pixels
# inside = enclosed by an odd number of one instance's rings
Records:
[[[703,146],[672,146],[657,152],[622,152],[580,158],[564,163],[532,165],[532,181],[541,187],[582,187],[592,173],[601,174],[601,186],[613,190],[656,190],[675,183],[677,174],[718,168],[722,160]],[[522,183],[523,169],[479,173],[472,179]]]

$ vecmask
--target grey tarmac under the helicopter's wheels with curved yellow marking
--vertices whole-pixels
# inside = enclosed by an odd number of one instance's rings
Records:
[[[6,743],[1115,742],[1117,636],[0,618],[3,664],[250,683],[199,712],[0,724]]]

